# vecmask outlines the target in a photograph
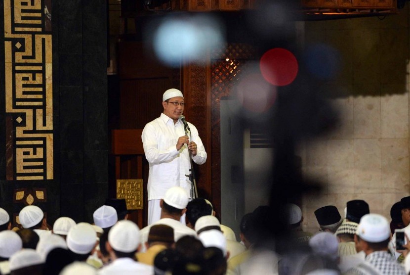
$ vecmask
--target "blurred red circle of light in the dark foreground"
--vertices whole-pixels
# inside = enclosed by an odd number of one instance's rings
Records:
[[[273,48],[265,52],[260,58],[259,66],[265,80],[276,86],[292,83],[299,69],[296,57],[284,48]]]

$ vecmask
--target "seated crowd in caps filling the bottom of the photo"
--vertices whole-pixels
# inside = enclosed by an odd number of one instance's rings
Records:
[[[220,224],[209,201],[189,201],[181,187],[169,188],[160,206],[161,219],[142,229],[127,220],[124,200],[108,199],[94,211],[92,225],[60,217],[51,230],[37,206],[24,207],[18,216],[22,229],[13,230],[0,208],[0,275],[410,272],[410,197],[391,207],[390,223],[370,213],[364,200],[348,201],[344,218],[335,206],[321,207],[314,212],[320,228],[313,235],[302,229],[296,204],[285,205],[279,215],[259,206],[242,217],[240,241]],[[282,230],[275,227],[281,222]],[[407,240],[400,249],[396,229]]]

